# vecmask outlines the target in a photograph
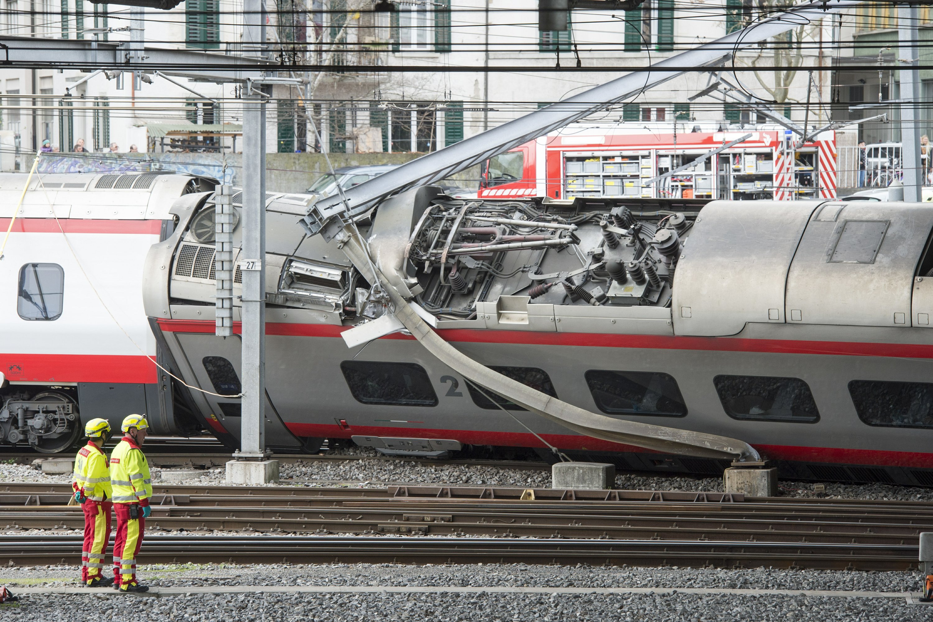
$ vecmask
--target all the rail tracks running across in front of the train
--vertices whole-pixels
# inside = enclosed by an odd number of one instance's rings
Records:
[[[0,563],[78,558],[70,531],[83,527],[83,516],[65,505],[68,491],[0,485]],[[723,493],[158,486],[153,504],[149,563],[503,559],[905,570],[916,565],[920,531],[933,530],[928,502]]]

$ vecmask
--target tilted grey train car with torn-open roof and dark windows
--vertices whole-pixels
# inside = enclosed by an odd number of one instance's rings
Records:
[[[438,192],[399,195],[360,226],[473,359],[592,413],[742,439],[785,476],[933,486],[929,206]],[[267,201],[270,445],[352,438],[429,455],[543,439],[623,468],[723,468],[568,431],[406,332],[348,348],[341,333],[375,315],[370,284],[336,242],[296,225],[310,201]],[[146,313],[188,383],[235,395],[240,342],[214,335],[215,283],[197,268],[213,209],[192,196],[175,210],[146,262]],[[238,400],[192,400],[218,436],[239,435]]]

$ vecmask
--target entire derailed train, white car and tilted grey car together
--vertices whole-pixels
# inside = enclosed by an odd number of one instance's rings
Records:
[[[0,273],[17,291],[3,320],[3,443],[62,450],[82,418],[129,408],[161,433],[205,428],[238,445],[239,400],[146,360],[239,393],[239,336],[214,335],[214,181],[144,176],[43,176],[27,192],[4,259],[16,269]],[[22,182],[0,180],[7,206]],[[553,445],[634,469],[726,464],[569,432],[406,332],[348,348],[342,333],[381,310],[336,240],[296,226],[311,200],[267,197],[277,451],[344,438],[425,455]],[[923,205],[464,202],[425,188],[358,225],[375,257],[401,254],[443,339],[523,384],[606,417],[743,439],[787,475],[933,484]]]

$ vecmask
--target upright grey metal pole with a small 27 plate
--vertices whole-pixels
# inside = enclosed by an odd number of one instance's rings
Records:
[[[244,56],[265,53],[262,0],[244,0]],[[243,458],[266,449],[266,104],[247,80],[243,108]]]

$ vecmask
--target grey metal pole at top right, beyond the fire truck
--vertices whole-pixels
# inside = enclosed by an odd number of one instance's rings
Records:
[[[920,68],[917,65],[917,7],[898,5],[898,61],[900,62],[900,143],[904,171],[904,201],[921,200],[920,125],[917,106],[920,101]]]

